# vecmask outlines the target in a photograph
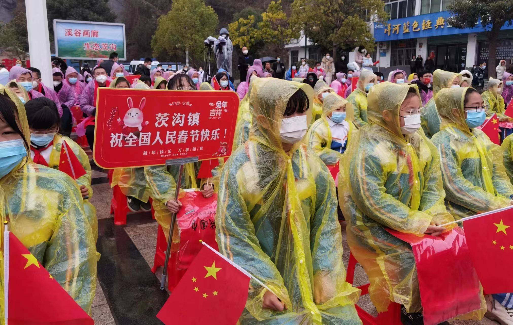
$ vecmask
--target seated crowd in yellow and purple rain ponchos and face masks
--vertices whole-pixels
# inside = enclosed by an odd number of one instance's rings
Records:
[[[202,70],[164,71],[145,62],[142,77],[129,82],[117,58],[109,61],[81,73],[56,66],[52,86],[39,70],[17,65],[0,87],[0,217],[9,216],[10,230],[88,313],[100,258],[97,221],[89,158],[69,137],[70,126],[93,146],[98,87],[234,90],[223,69],[202,83]],[[377,311],[397,302],[403,323],[422,324],[411,247],[385,228],[438,236],[448,230],[441,224],[511,204],[513,136],[498,146],[478,126],[493,113],[505,126],[512,122],[504,109],[513,75],[490,79],[480,94],[466,70],[394,70],[385,80],[362,67],[330,80],[334,70],[305,61],[295,68],[286,80],[269,78],[254,60],[236,89],[230,158],[220,159],[210,179],[196,179],[199,164],[186,164],[179,186],[207,198],[217,193],[219,251],[266,284],[251,280],[240,322],[361,324],[354,307],[360,290],[346,282],[342,259],[345,219]],[[352,77],[359,79],[351,91]],[[58,170],[64,143],[86,170],[77,180]],[[153,207],[167,236],[181,208],[174,200],[178,172],[173,165],[118,168],[111,186],[132,211]],[[512,296],[479,294],[482,308],[459,318],[506,313]]]

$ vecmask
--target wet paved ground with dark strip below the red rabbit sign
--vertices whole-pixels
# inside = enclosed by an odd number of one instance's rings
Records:
[[[110,215],[112,192],[104,170],[93,167],[93,192],[91,199],[98,217],[98,282],[92,317],[96,325],[162,324],[155,318],[169,292],[160,290],[162,268],[151,273],[156,248],[157,223],[151,214],[129,215],[127,224],[115,226]],[[349,260],[349,247],[344,235],[344,263]],[[368,283],[362,267],[357,264],[354,285]],[[376,314],[368,295],[358,303],[369,313]],[[497,325],[484,318],[482,321],[452,320],[451,324]]]

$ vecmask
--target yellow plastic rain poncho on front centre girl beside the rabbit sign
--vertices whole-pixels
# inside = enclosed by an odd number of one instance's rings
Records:
[[[249,141],[221,174],[216,241],[222,254],[265,283],[287,310],[262,309],[265,290],[251,280],[240,323],[361,324],[354,308],[360,290],[345,281],[333,178],[305,144],[286,153],[280,139],[289,98],[302,89],[311,109],[312,88],[274,78],[254,83]],[[314,293],[331,299],[315,304]]]

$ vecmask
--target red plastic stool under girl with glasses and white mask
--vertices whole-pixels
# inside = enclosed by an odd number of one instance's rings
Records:
[[[346,281],[350,284],[353,283],[354,279],[354,267],[358,261],[352,253],[349,255],[349,262],[347,263],[347,275]],[[362,290],[362,295],[367,295],[369,293],[369,285],[370,283],[361,285],[358,289]],[[402,325],[401,322],[401,305],[397,302],[390,302],[388,305],[388,310],[383,313],[378,313],[378,317],[374,317],[364,311],[359,305],[354,305],[358,312],[358,316],[363,322],[363,325]]]

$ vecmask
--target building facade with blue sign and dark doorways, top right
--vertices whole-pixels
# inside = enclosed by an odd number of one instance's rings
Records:
[[[448,24],[446,10],[451,0],[384,0],[390,20],[374,23],[380,69],[401,68],[409,72],[412,56],[433,60],[433,69],[459,72],[488,61],[484,28],[458,29]],[[503,26],[496,51],[497,64],[513,58],[513,26]],[[495,66],[493,67],[495,69]]]

